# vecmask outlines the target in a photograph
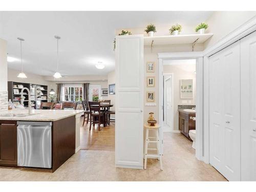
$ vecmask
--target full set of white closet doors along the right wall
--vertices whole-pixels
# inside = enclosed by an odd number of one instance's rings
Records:
[[[210,164],[256,181],[256,32],[209,57]]]

